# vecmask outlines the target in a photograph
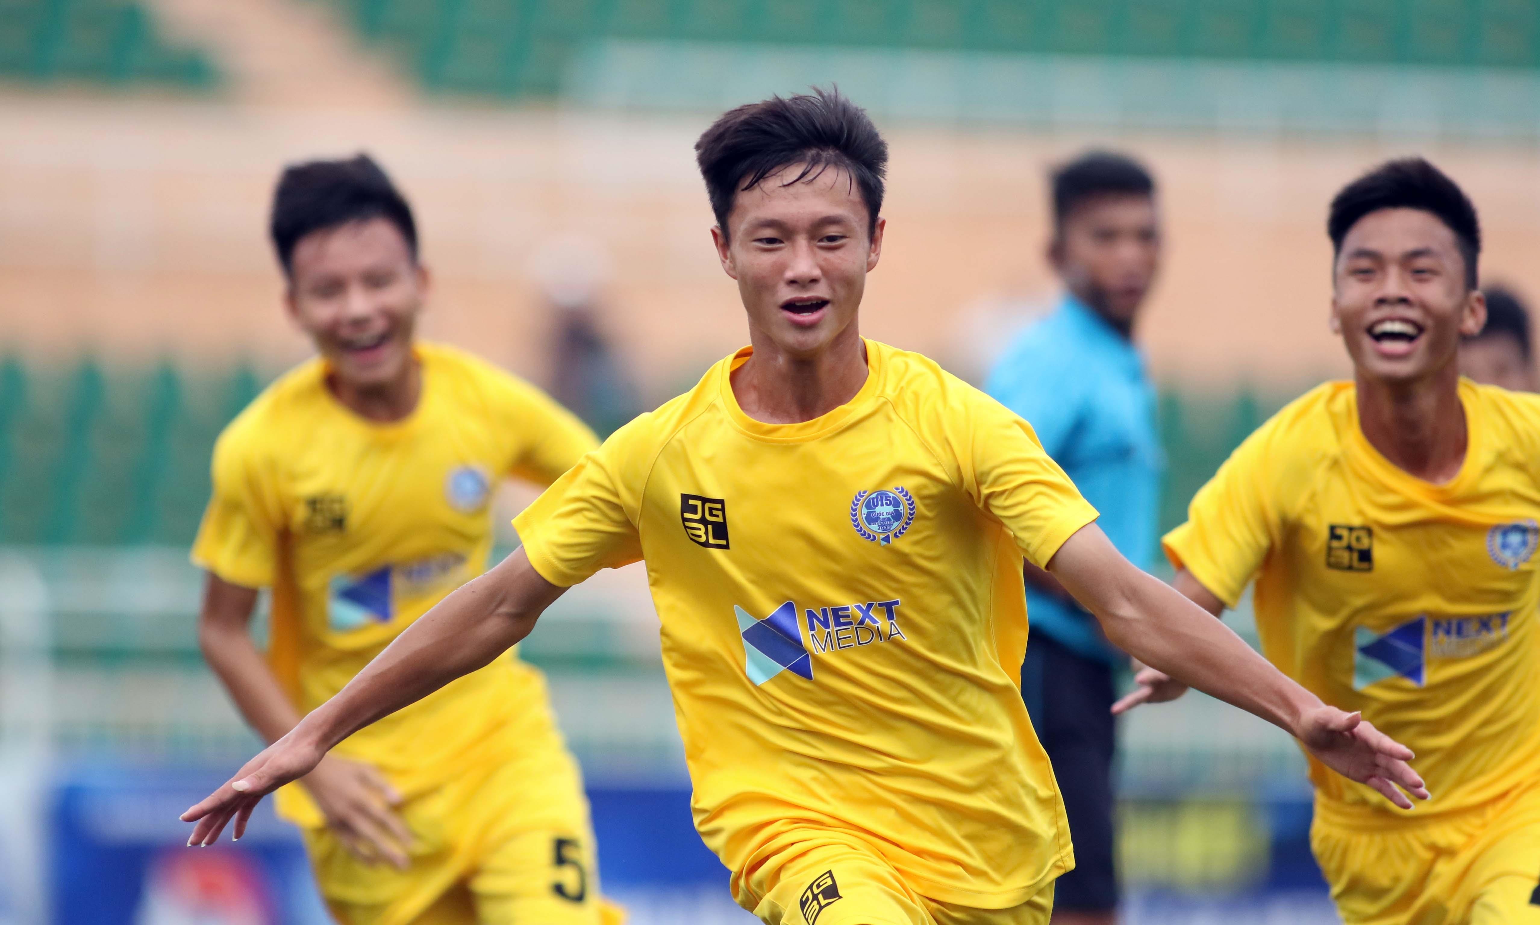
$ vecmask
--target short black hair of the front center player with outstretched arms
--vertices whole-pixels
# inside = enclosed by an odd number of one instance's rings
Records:
[[[802,165],[802,171],[785,180],[785,186],[829,168],[850,174],[870,212],[867,232],[876,234],[887,142],[865,109],[839,95],[838,88],[813,88],[810,94],[770,97],[730,109],[695,143],[695,160],[724,235],[738,192],[792,165]]]

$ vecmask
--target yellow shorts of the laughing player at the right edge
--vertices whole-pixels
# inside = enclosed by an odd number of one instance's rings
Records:
[[[1318,813],[1311,848],[1346,925],[1540,925],[1540,786],[1391,828]]]

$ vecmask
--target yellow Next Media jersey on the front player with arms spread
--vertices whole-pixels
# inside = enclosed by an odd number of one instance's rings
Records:
[[[847,405],[768,425],[728,382],[745,348],[514,525],[556,585],[647,560],[696,826],[741,905],[767,857],[845,837],[927,897],[1012,907],[1073,863],[1021,702],[1021,557],[1096,513],[993,399],[865,351]]]

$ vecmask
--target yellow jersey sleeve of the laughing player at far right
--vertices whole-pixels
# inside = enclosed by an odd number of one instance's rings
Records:
[[[1240,603],[1278,536],[1269,502],[1270,432],[1263,426],[1247,437],[1194,496],[1187,522],[1161,540],[1172,566],[1186,568],[1229,608]]]

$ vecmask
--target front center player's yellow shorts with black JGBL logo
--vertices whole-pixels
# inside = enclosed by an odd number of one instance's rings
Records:
[[[756,868],[767,890],[753,913],[765,925],[1047,925],[1053,910],[1052,882],[1009,910],[976,910],[919,896],[870,848],[808,845]]]

